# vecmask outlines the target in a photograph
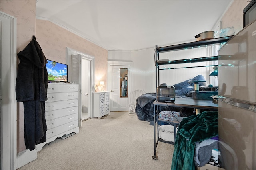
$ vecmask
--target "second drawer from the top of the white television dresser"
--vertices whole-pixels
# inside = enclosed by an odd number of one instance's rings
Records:
[[[47,102],[55,102],[60,100],[78,99],[78,92],[64,92],[64,93],[48,93]]]

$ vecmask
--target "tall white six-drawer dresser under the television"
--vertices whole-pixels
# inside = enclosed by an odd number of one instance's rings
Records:
[[[46,143],[57,137],[78,133],[79,84],[48,84],[45,102]]]

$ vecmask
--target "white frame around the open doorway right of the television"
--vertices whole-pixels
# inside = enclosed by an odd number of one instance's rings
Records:
[[[91,93],[90,93],[90,115],[88,115],[88,117],[94,117],[93,115],[93,98],[92,98],[92,87],[94,85],[94,72],[95,72],[95,58],[88,55],[88,54],[85,54],[85,53],[82,53],[80,51],[77,51],[77,50],[74,50],[74,49],[71,49],[69,47],[66,47],[66,59],[67,59],[67,64],[68,66],[71,65],[71,55],[76,55],[76,54],[80,54],[82,55],[83,58],[87,59],[87,60],[90,60],[91,61],[91,82],[90,82],[90,86],[91,86]],[[71,69],[68,69],[68,75],[71,75]],[[68,80],[70,80],[68,78]],[[79,93],[80,94],[80,93]],[[79,99],[80,102],[81,102],[81,99]],[[81,104],[80,104],[80,113],[79,113],[79,116],[78,119],[79,119],[79,127],[81,127],[81,114],[82,114],[82,107],[81,107]]]

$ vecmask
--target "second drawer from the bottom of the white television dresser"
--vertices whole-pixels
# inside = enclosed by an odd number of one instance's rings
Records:
[[[58,119],[46,121],[46,125],[47,125],[47,129],[49,130],[54,127],[57,127],[75,120],[78,121],[78,114],[72,114],[65,117],[60,117]]]

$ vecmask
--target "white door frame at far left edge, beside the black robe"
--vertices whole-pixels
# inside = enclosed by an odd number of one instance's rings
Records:
[[[8,70],[8,79],[6,82],[1,81],[1,86],[3,86],[3,90],[8,91],[8,99],[5,100],[4,97],[1,96],[1,104],[7,105],[8,110],[0,115],[0,125],[1,125],[1,159],[0,159],[0,169],[16,169],[16,156],[17,156],[17,102],[16,102],[16,93],[15,93],[15,84],[16,84],[16,72],[17,72],[17,21],[16,18],[6,14],[4,12],[0,12],[1,15],[1,41],[2,46],[0,47],[2,57],[9,57],[8,63],[6,67]],[[2,29],[2,21],[3,19],[7,19],[10,23],[10,32],[6,32],[5,29]],[[5,44],[4,44],[5,43]],[[10,47],[11,46],[11,47]],[[6,50],[6,53],[4,50]],[[7,55],[6,55],[7,54]],[[6,58],[5,58],[6,59]],[[2,60],[2,59],[1,59]],[[2,61],[0,62],[2,64]],[[1,74],[4,73],[1,65]],[[1,94],[2,95],[2,94]],[[3,99],[3,100],[2,100]],[[4,123],[3,123],[4,122]],[[2,124],[1,124],[2,123]],[[3,146],[5,145],[5,146]]]

